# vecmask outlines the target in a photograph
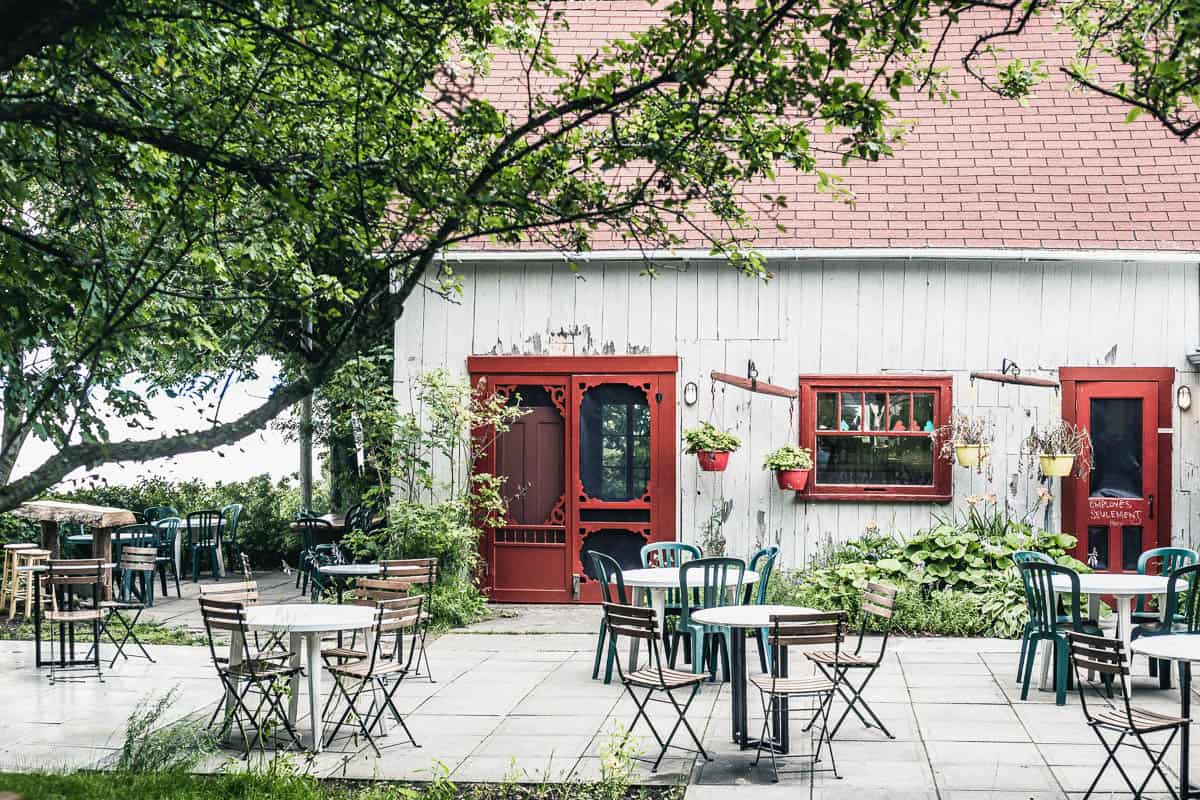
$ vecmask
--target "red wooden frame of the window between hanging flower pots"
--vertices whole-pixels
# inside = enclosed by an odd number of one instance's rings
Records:
[[[809,449],[816,461],[817,393],[818,392],[917,392],[934,395],[934,427],[949,422],[953,404],[950,375],[800,375],[800,446]],[[911,409],[911,405],[910,405]],[[911,414],[911,411],[910,411]],[[841,419],[839,414],[839,420]],[[822,431],[822,435],[925,437],[923,431]],[[934,451],[932,486],[900,485],[822,485],[820,470],[814,464],[812,477],[800,497],[805,500],[858,500],[860,503],[949,503],[954,497],[950,462]]]

